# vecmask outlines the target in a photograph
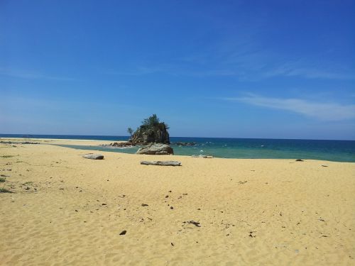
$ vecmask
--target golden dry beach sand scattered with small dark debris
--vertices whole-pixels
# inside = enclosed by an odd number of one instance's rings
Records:
[[[1,265],[355,265],[354,163],[84,153],[0,143]]]

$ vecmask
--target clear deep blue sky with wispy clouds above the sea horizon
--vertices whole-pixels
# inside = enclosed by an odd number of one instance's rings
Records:
[[[0,133],[355,139],[355,1],[0,1]]]

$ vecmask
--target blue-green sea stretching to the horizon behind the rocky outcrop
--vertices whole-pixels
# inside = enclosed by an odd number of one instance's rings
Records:
[[[111,135],[23,135],[0,134],[0,138],[58,138],[81,140],[128,140]],[[172,145],[175,155],[213,155],[223,158],[314,159],[355,162],[355,140],[285,140],[261,138],[185,138],[170,137],[175,142],[195,142],[195,146]],[[69,148],[136,153],[138,148],[104,148],[102,146],[65,145]]]

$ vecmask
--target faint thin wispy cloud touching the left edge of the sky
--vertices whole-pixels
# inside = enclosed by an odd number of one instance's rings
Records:
[[[15,70],[9,68],[0,68],[0,75],[8,77],[18,77],[21,79],[52,79],[52,80],[62,80],[62,81],[72,81],[76,80],[72,77],[58,77],[48,74],[43,74],[41,72],[35,72],[31,70]]]

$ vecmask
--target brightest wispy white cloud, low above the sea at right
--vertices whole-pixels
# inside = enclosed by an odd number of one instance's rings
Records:
[[[355,118],[355,104],[322,103],[304,99],[269,98],[249,94],[248,96],[223,98],[227,101],[239,101],[254,106],[280,109],[300,113],[323,121],[341,121]]]

